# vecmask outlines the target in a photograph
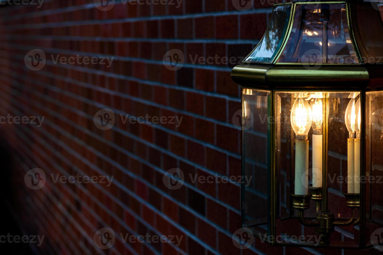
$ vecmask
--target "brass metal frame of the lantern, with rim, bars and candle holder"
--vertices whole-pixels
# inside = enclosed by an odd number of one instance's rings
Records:
[[[368,91],[381,91],[383,90],[383,75],[382,66],[378,66],[378,64],[382,64],[381,60],[378,62],[363,62],[361,52],[366,52],[366,49],[363,48],[363,41],[358,36],[358,28],[357,28],[357,10],[355,9],[355,5],[364,5],[364,7],[368,10],[368,5],[370,3],[364,3],[357,0],[335,0],[335,1],[320,1],[318,4],[339,4],[343,3],[346,6],[347,11],[347,24],[349,26],[350,37],[352,38],[352,44],[355,49],[355,55],[358,58],[358,63],[352,64],[334,64],[334,63],[321,63],[321,67],[318,69],[308,69],[302,63],[279,63],[277,62],[278,58],[283,53],[283,49],[285,49],[288,39],[291,35],[291,31],[293,29],[293,21],[296,15],[296,8],[299,5],[303,4],[312,4],[313,2],[309,1],[293,1],[291,3],[282,3],[276,6],[285,6],[291,5],[290,16],[288,18],[288,27],[286,29],[285,34],[283,35],[283,42],[280,45],[279,49],[277,49],[277,53],[274,55],[271,63],[265,63],[263,61],[252,62],[252,61],[244,61],[240,65],[237,65],[232,69],[231,77],[232,80],[236,83],[240,84],[242,88],[249,89],[265,89],[270,91],[270,96],[268,97],[268,116],[275,117],[277,115],[275,109],[275,94],[277,92],[283,91],[326,91],[326,92],[346,92],[346,91],[356,91],[360,93],[361,100],[361,162],[360,162],[360,175],[366,175],[366,92]],[[371,6],[372,8],[372,6]],[[373,9],[370,10],[373,13]],[[274,15],[274,12],[273,14]],[[272,18],[270,18],[269,26]],[[382,37],[383,38],[383,23],[382,20],[378,19],[376,15],[375,21],[377,24],[382,26]],[[266,34],[262,37],[262,40],[265,39]],[[378,39],[379,40],[379,39]],[[383,42],[383,39],[381,40]],[[257,49],[255,49],[248,55],[248,57]],[[364,53],[364,55],[366,55]],[[381,52],[383,55],[383,49]],[[375,65],[374,65],[375,64]],[[347,87],[346,87],[347,85]],[[347,89],[346,89],[347,88]],[[243,98],[242,98],[243,100]],[[242,102],[243,103],[243,102]],[[328,105],[328,104],[324,104]],[[324,114],[328,114],[327,109],[323,109]],[[325,116],[325,115],[324,115]],[[328,142],[328,123],[327,118],[324,117],[323,123],[323,155],[322,155],[322,190],[320,194],[317,192],[313,194],[318,196],[317,201],[317,209],[318,206],[321,210],[327,210],[328,198],[327,198],[327,142]],[[270,146],[270,150],[268,150],[268,234],[272,236],[276,236],[276,218],[277,218],[277,187],[276,187],[276,124],[268,123],[268,145]],[[241,133],[242,140],[242,172],[245,172],[245,159],[244,155],[244,140]],[[294,150],[294,146],[291,147]],[[345,193],[347,202],[346,205],[352,208],[352,215],[354,216],[354,208],[359,207],[359,217],[360,219],[350,219],[350,224],[359,224],[360,226],[360,238],[359,238],[359,247],[349,247],[349,249],[360,249],[360,248],[368,248],[372,247],[372,245],[366,245],[365,240],[365,214],[366,214],[366,187],[365,183],[360,183],[360,196],[353,196]],[[245,186],[242,184],[241,187],[242,194],[245,193]],[[314,196],[315,195],[315,196]],[[313,197],[311,199],[313,199]],[[320,199],[319,199],[320,197]],[[306,200],[307,198],[304,198]],[[295,200],[296,203],[294,208],[300,208],[302,210],[305,209],[305,201]],[[242,196],[241,198],[241,210],[242,210],[242,223],[245,222],[245,198]],[[298,213],[303,220],[303,211]],[[326,218],[328,215],[323,216],[323,222],[313,222],[311,223],[313,226],[315,224],[327,224],[328,219]],[[352,217],[353,217],[352,216]],[[331,216],[330,216],[331,217]],[[355,221],[354,221],[355,220]],[[317,220],[318,221],[318,218]],[[331,220],[330,220],[331,221]],[[331,223],[333,224],[334,221]],[[244,226],[247,227],[247,226]],[[282,245],[282,246],[296,246],[293,244],[279,244],[275,242],[275,239],[271,240],[270,244],[272,245]],[[313,247],[312,245],[301,245],[303,247]],[[341,246],[329,246],[326,244],[319,245],[317,247],[326,247],[326,248],[344,248]]]

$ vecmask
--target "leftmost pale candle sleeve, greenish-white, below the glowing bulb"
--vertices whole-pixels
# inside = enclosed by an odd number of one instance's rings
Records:
[[[309,141],[295,141],[295,195],[308,194]]]

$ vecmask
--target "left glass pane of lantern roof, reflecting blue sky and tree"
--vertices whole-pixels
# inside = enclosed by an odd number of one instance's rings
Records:
[[[275,6],[264,37],[244,62],[271,63],[280,49],[290,19],[291,5]]]

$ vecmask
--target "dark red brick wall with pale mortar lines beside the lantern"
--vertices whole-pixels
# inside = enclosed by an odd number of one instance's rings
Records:
[[[231,117],[241,109],[234,64],[194,65],[197,57],[245,57],[262,37],[270,5],[238,11],[231,0],[183,0],[174,5],[123,5],[109,11],[90,0],[45,0],[7,6],[1,13],[1,115],[44,116],[41,127],[2,125],[15,154],[10,208],[29,233],[46,235],[43,254],[96,254],[93,236],[110,227],[132,235],[179,235],[170,243],[123,243],[116,235],[108,254],[255,254],[340,250],[280,248],[258,240],[247,250],[231,241],[241,227],[240,187],[194,184],[188,174],[240,175],[240,133]],[[41,49],[39,71],[25,65]],[[182,50],[185,64],[172,71],[164,54]],[[100,64],[62,65],[56,58],[114,57]],[[192,55],[192,58],[189,57]],[[237,59],[237,58],[236,58]],[[240,58],[237,59],[239,61]],[[30,66],[29,66],[30,67]],[[112,109],[116,123],[100,130],[93,117]],[[183,117],[174,124],[124,124],[118,114]],[[166,171],[178,167],[185,184],[170,190]],[[31,190],[30,169],[41,168],[46,184]],[[112,184],[54,184],[50,174],[114,176]]]

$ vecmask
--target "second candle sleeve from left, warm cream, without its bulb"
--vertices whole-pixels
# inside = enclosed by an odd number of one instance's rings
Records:
[[[323,135],[313,135],[313,187],[322,187],[322,147]]]

